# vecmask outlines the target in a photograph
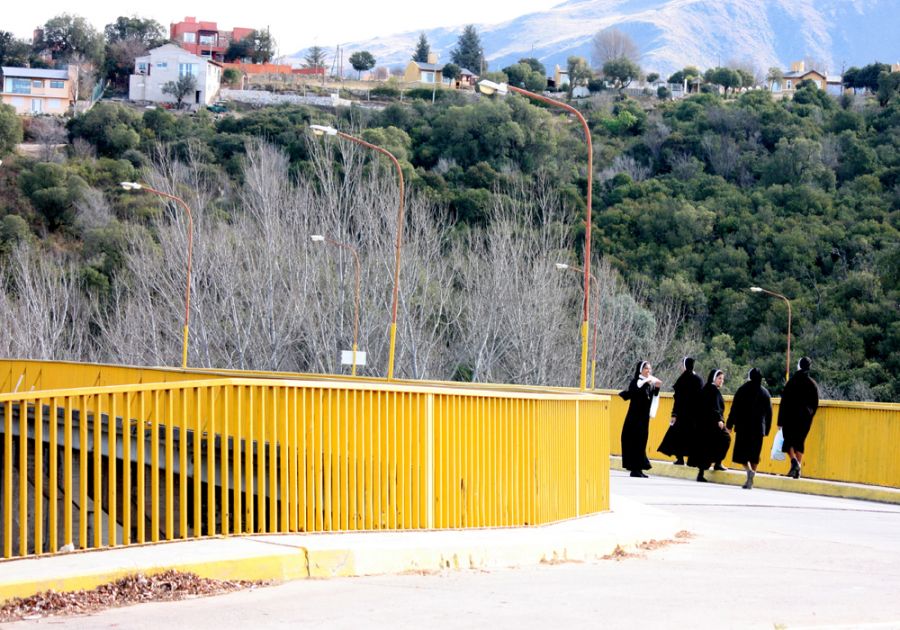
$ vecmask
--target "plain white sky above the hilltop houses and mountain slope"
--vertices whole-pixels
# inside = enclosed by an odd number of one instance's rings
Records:
[[[13,0],[8,0],[11,3]],[[120,15],[152,18],[166,29],[185,16],[216,22],[219,29],[236,26],[264,29],[268,27],[278,44],[279,55],[290,55],[312,45],[337,44],[394,35],[406,31],[465,24],[494,24],[519,15],[549,9],[563,0],[514,0],[485,2],[484,0],[454,0],[453,2],[412,2],[395,0],[379,3],[345,0],[331,5],[318,3],[254,2],[222,3],[198,0],[192,3],[175,0],[156,0],[135,11],[128,3],[123,10],[120,2],[92,0],[73,9],[70,0],[17,2],[14,10],[0,12],[0,30],[15,36],[31,38],[32,31],[52,17],[62,13],[80,15],[98,31]],[[310,8],[314,7],[314,8]],[[330,13],[330,15],[329,15]]]

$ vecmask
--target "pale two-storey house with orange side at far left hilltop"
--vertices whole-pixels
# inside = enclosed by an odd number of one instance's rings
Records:
[[[0,100],[18,114],[56,114],[69,111],[76,69],[44,70],[3,66]]]

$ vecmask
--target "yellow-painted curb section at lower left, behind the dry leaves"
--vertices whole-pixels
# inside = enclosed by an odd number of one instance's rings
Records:
[[[100,570],[96,573],[83,573],[81,575],[24,582],[10,580],[6,583],[0,583],[0,604],[14,597],[31,597],[32,595],[51,590],[57,593],[90,590],[103,584],[115,582],[128,575],[136,575],[138,573],[154,575],[169,570],[195,573],[200,577],[214,580],[285,582],[287,580],[310,577],[311,575],[307,565],[307,552],[303,548],[298,548],[269,556],[213,562],[173,563],[146,568]]]

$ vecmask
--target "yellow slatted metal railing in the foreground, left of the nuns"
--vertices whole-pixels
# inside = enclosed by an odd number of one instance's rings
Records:
[[[2,556],[599,512],[608,405],[575,392],[262,378],[6,393]]]

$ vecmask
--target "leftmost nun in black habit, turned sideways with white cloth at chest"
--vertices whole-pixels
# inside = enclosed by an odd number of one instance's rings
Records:
[[[638,363],[628,389],[619,393],[629,401],[622,425],[622,468],[630,470],[632,477],[646,477],[643,471],[650,470],[650,460],[647,459],[650,406],[653,399],[659,396],[659,386],[662,385],[662,381],[651,375],[651,371],[649,361]]]

